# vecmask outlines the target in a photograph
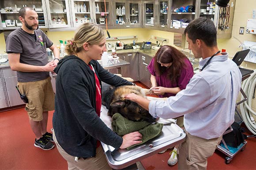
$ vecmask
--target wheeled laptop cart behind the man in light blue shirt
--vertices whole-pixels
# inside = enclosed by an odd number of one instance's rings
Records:
[[[239,68],[239,69],[240,69],[240,68]],[[253,73],[253,70],[244,70],[244,69],[241,70],[241,69],[240,69],[240,71],[241,71],[241,73],[242,73],[242,81],[244,81],[245,79],[247,79],[247,78],[248,78],[249,76],[251,76],[251,74]],[[237,106],[240,105],[241,103],[245,102],[245,101],[248,99],[247,96],[246,96],[246,94],[245,94],[245,92],[244,92],[244,90],[243,90],[242,88],[240,89],[240,92],[241,92],[242,96],[244,97],[244,99],[241,100],[241,101],[239,101],[239,102],[237,102],[236,108],[235,108],[235,112],[237,113],[237,115],[238,115],[239,118],[240,118],[240,121],[238,122],[239,125],[241,125],[241,123],[243,123],[243,119],[242,119],[242,117],[241,117],[240,112],[237,110]],[[233,128],[230,126],[229,129],[226,130],[223,135],[228,134],[228,133],[230,133],[230,132],[232,132],[232,131],[233,131]],[[224,147],[222,147],[221,145],[218,145],[217,149],[218,149],[220,152],[226,154],[227,157],[225,158],[225,160],[226,160],[225,163],[226,163],[226,164],[229,164],[229,163],[232,161],[233,157],[236,156],[238,152],[243,151],[243,150],[245,149],[245,146],[246,146],[246,144],[247,144],[247,141],[244,141],[244,142],[238,147],[237,151],[235,151],[235,152],[231,152],[231,151],[230,151],[230,148],[228,148],[228,146],[226,145],[226,142],[224,141],[223,138],[222,138],[222,143],[223,143]]]

